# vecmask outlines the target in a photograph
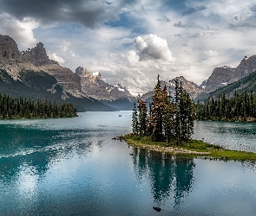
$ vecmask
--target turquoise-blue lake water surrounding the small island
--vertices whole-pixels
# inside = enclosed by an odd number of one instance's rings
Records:
[[[112,139],[131,131],[130,111],[79,115],[0,121],[0,215],[256,215],[254,162],[174,160]],[[194,129],[255,151],[256,124]]]

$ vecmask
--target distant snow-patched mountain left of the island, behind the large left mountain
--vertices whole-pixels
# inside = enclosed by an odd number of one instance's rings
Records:
[[[121,84],[109,85],[102,79],[101,73],[89,73],[83,67],[77,67],[75,73],[81,78],[82,92],[99,100],[114,101],[118,98],[132,98],[126,87]]]

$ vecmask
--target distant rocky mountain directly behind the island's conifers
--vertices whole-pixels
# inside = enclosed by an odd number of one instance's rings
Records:
[[[203,88],[200,86],[197,86],[194,82],[190,82],[187,79],[185,79],[183,76],[176,77],[169,81],[161,81],[161,88],[164,86],[167,86],[167,92],[171,97],[174,97],[175,92],[175,80],[178,80],[178,82],[181,82],[182,87],[187,91],[187,93],[190,95],[191,98],[196,98],[197,95],[203,91]],[[154,95],[154,91],[149,91],[141,96],[141,99],[144,101],[151,101],[152,97]]]

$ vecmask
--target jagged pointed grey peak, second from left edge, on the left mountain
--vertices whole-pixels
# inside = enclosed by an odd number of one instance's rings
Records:
[[[40,67],[46,64],[58,64],[55,60],[49,59],[45,48],[43,48],[42,42],[37,43],[35,48],[29,48],[26,51],[23,51],[22,54],[36,67]]]

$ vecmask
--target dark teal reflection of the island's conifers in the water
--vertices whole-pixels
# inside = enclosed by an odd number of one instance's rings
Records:
[[[161,206],[165,200],[173,200],[174,208],[192,190],[194,183],[193,160],[167,156],[148,149],[133,150],[135,173],[139,179],[147,178],[155,206]]]

